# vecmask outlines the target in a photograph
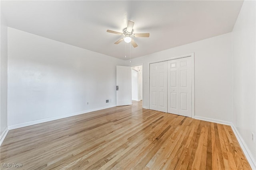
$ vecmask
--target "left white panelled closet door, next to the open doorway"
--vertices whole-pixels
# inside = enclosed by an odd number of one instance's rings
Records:
[[[167,112],[167,61],[150,64],[150,109]]]

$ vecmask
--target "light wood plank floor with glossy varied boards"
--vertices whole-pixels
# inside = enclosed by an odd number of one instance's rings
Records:
[[[141,105],[11,130],[0,148],[1,163],[25,170],[251,169],[230,126]]]

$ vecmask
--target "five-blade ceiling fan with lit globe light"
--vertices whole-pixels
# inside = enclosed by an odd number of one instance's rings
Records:
[[[133,38],[134,37],[149,37],[149,33],[133,33],[133,25],[134,25],[134,22],[128,21],[127,28],[125,28],[123,30],[123,33],[112,31],[109,29],[107,30],[107,32],[118,34],[118,35],[124,35],[123,38],[119,39],[114,44],[119,44],[119,43],[121,43],[121,41],[124,40],[126,43],[132,43],[132,46],[135,48],[135,47],[138,47],[138,45],[135,43]]]

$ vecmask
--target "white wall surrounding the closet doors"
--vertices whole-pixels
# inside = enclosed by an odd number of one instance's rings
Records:
[[[132,59],[131,65],[143,63],[143,107],[149,105],[149,62],[193,52],[195,115],[232,121],[231,33]]]

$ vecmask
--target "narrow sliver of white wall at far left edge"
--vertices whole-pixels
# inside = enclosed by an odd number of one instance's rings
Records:
[[[7,26],[1,10],[0,27],[0,136],[7,127]]]

